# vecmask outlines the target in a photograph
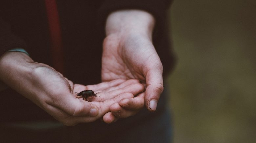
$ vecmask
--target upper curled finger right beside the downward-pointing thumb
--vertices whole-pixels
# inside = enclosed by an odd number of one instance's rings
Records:
[[[125,98],[119,102],[119,105],[126,110],[140,110],[145,106],[145,92],[139,94],[134,98]]]

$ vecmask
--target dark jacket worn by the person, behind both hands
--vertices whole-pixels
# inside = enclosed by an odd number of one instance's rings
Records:
[[[164,75],[167,75],[174,63],[166,19],[169,5],[168,0],[57,1],[63,41],[64,76],[74,83],[84,85],[101,82],[105,20],[110,12],[118,9],[142,9],[154,15],[156,26],[153,44],[163,63]],[[7,50],[24,48],[34,61],[52,66],[44,1],[1,2],[0,14],[0,56]],[[11,89],[0,92],[0,102],[1,113],[5,113],[5,116],[1,116],[2,122],[53,119]]]

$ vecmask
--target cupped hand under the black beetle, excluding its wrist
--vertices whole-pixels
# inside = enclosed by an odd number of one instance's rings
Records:
[[[134,82],[135,80],[119,79],[88,86],[73,84],[48,67],[38,67],[34,76],[37,79],[36,85],[41,85],[41,88],[37,88],[41,90],[39,97],[43,97],[40,102],[35,102],[66,125],[95,121],[110,112],[112,104],[123,98],[133,98],[134,94],[144,90],[143,85]],[[88,89],[99,92],[99,97],[91,97],[85,101],[75,94]]]

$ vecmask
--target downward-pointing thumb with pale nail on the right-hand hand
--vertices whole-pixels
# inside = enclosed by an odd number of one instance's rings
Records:
[[[157,102],[160,95],[163,92],[163,76],[162,76],[162,65],[160,67],[154,67],[149,70],[146,74],[146,92],[145,101],[146,107],[149,111],[155,111],[157,108]]]

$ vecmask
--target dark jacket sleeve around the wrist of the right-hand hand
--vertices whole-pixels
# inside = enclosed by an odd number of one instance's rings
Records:
[[[172,0],[104,0],[98,9],[99,26],[105,31],[107,16],[116,10],[121,9],[141,9],[151,13],[156,24],[153,31],[153,41],[160,38],[161,33],[166,28],[166,14]]]

